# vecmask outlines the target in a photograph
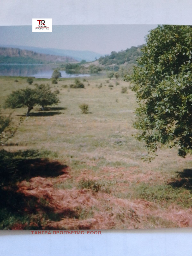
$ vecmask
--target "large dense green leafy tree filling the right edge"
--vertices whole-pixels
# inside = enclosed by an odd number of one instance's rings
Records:
[[[135,128],[149,153],[178,147],[185,157],[192,149],[192,27],[162,25],[146,36],[132,90],[138,108]]]

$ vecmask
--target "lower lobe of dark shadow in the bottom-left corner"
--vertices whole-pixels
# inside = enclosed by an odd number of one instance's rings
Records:
[[[17,187],[0,188],[0,229],[45,229],[47,221],[59,221],[61,213],[55,213],[47,201],[33,195],[26,196]]]

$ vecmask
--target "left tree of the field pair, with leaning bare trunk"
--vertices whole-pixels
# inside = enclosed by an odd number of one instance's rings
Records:
[[[10,95],[8,95],[5,106],[12,109],[27,107],[28,111],[26,116],[28,116],[29,112],[37,103],[36,90],[27,87],[25,89],[13,91]]]

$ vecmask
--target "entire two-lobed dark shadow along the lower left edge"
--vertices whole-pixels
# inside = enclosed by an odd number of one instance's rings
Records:
[[[18,182],[67,174],[67,165],[41,158],[35,150],[15,153],[3,150],[0,167],[0,229],[43,229],[46,221],[63,218],[63,213],[55,213],[44,198],[19,192]]]

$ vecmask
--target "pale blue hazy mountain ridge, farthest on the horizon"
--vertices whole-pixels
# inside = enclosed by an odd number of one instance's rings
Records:
[[[0,45],[0,47],[25,49],[25,50],[38,52],[41,54],[68,56],[73,59],[76,59],[77,61],[81,61],[81,60],[94,61],[95,58],[99,59],[102,56],[101,54],[93,51],[62,50],[62,49],[55,49],[55,48],[40,48],[40,47],[21,46],[21,45]]]

